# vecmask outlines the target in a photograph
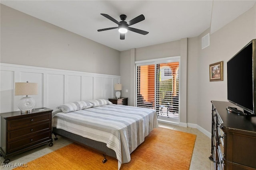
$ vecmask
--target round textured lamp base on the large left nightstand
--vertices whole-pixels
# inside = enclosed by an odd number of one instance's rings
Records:
[[[31,97],[24,97],[21,98],[18,102],[18,108],[20,109],[21,113],[31,113],[32,109],[35,107],[35,100]]]

